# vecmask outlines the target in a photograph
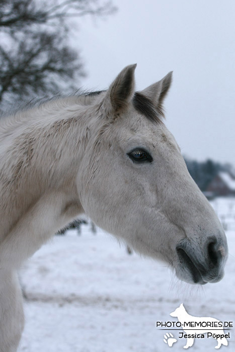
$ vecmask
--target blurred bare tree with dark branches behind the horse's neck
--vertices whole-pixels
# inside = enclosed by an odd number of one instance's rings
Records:
[[[74,89],[85,72],[67,19],[115,10],[106,0],[0,0],[0,104]]]

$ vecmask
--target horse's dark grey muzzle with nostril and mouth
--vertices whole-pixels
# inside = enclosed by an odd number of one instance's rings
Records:
[[[224,275],[227,259],[226,238],[208,237],[203,246],[184,238],[176,247],[176,275],[191,284],[216,283]]]

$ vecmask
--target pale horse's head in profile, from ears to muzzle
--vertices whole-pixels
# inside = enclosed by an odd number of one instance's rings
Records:
[[[135,92],[125,67],[94,100],[77,189],[85,212],[136,251],[160,258],[183,281],[217,282],[227,243],[163,121],[172,73]]]

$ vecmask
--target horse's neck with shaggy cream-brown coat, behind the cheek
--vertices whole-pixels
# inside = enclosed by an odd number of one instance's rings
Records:
[[[62,104],[61,104],[62,105]],[[40,107],[1,126],[0,220],[9,226],[48,190],[76,197],[76,173],[89,139],[89,107]]]

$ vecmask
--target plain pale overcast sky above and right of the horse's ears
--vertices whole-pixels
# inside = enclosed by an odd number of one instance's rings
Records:
[[[89,74],[84,88],[105,89],[132,63],[137,90],[173,70],[166,124],[182,153],[235,165],[235,2],[113,3],[115,15],[96,24],[80,19],[80,31],[73,33]]]

